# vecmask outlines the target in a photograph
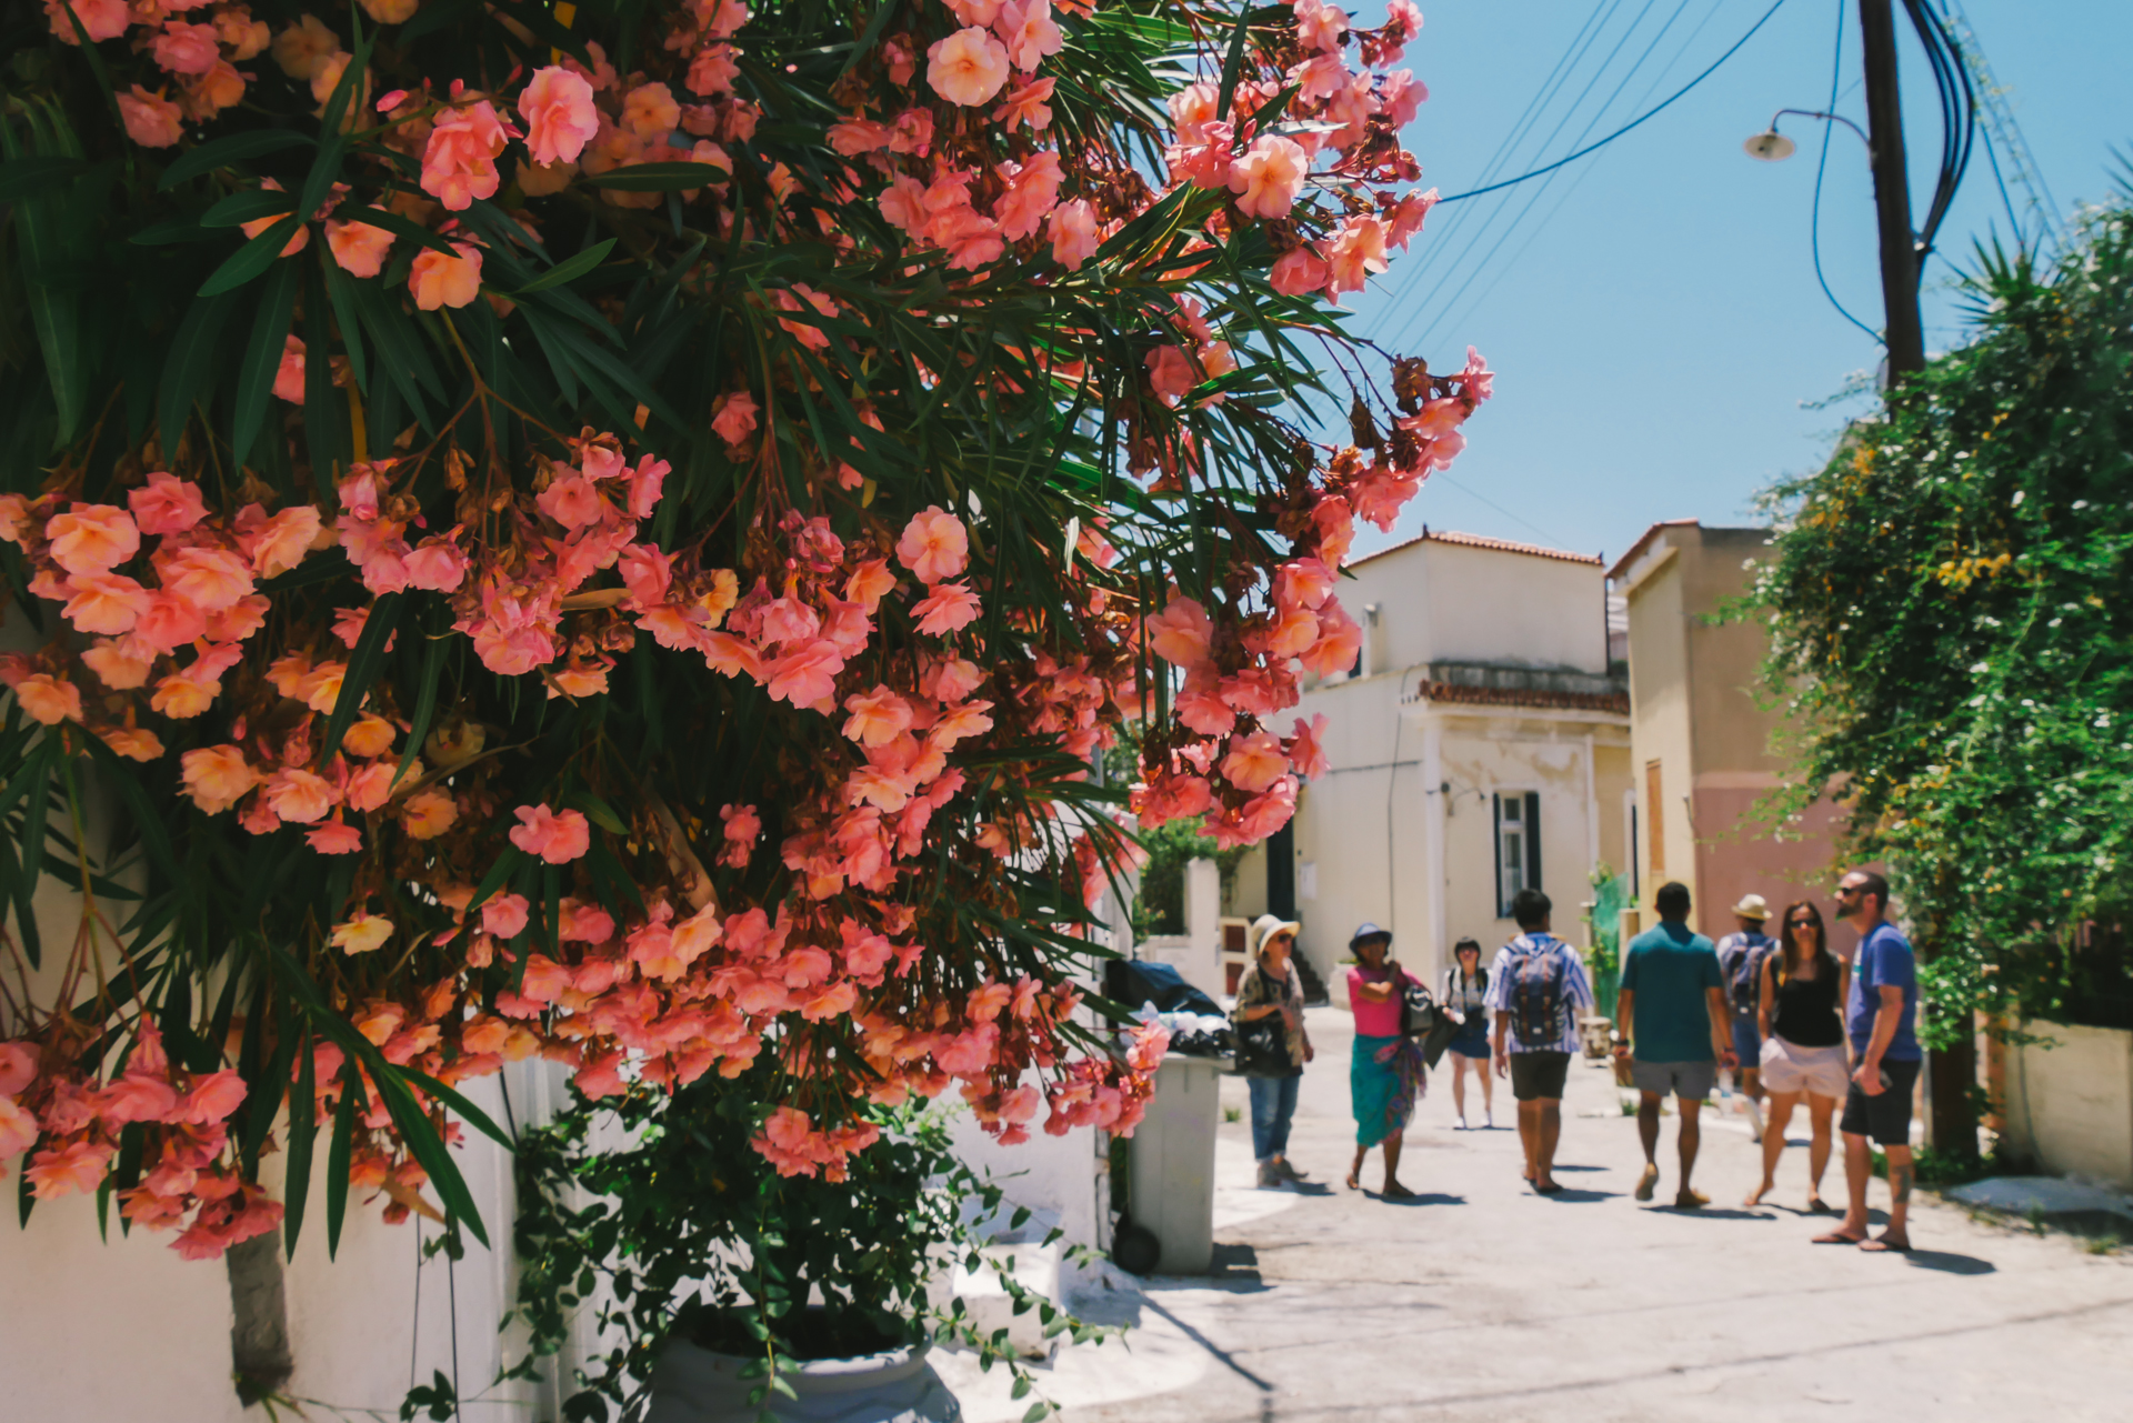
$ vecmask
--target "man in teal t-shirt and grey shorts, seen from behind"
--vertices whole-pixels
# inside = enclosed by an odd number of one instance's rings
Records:
[[[1649,1201],[1659,1184],[1659,1105],[1672,1092],[1681,1109],[1681,1184],[1674,1210],[1696,1210],[1711,1203],[1711,1197],[1689,1188],[1696,1148],[1702,1144],[1704,1099],[1717,1082],[1717,1065],[1732,1067],[1738,1058],[1732,1052],[1717,949],[1689,928],[1689,888],[1664,883],[1653,902],[1659,928],[1632,939],[1621,960],[1615,1056],[1630,1058],[1638,1094],[1636,1135],[1645,1144],[1645,1176],[1636,1182],[1636,1199]]]

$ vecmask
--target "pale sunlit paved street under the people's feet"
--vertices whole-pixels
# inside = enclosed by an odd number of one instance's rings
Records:
[[[1130,1348],[1084,1346],[1039,1370],[1073,1423],[2127,1417],[2127,1252],[1939,1203],[1913,1210],[1909,1257],[1811,1246],[1826,1220],[1798,1210],[1805,1122],[1777,1208],[1738,1208],[1758,1158],[1734,1122],[1704,1131],[1709,1210],[1638,1205],[1636,1122],[1585,1067],[1572,1067],[1559,1197],[1519,1180],[1508,1084],[1499,1129],[1461,1133],[1438,1075],[1401,1165],[1421,1199],[1384,1203],[1340,1186],[1354,1139],[1348,1016],[1310,1022],[1318,1060],[1290,1156],[1312,1193],[1252,1190],[1248,1126],[1224,1124],[1220,1274],[1086,1301],[1137,1327]],[[1241,1105],[1244,1084],[1224,1086]],[[1668,1116],[1659,1201],[1674,1193],[1672,1131]],[[1834,1161],[1824,1190],[1843,1199]],[[977,1423],[1026,1408],[951,1378]]]

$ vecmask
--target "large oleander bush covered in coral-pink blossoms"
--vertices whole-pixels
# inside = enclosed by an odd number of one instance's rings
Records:
[[[892,0],[864,38],[774,0],[540,34],[314,9],[47,0],[119,77],[137,207],[194,224],[141,250],[271,277],[239,390],[149,401],[115,459],[62,431],[0,495],[64,625],[0,681],[38,755],[139,770],[166,838],[301,885],[271,934],[360,1043],[277,1001],[286,1082],[194,1080],[139,975],[96,1001],[109,1041],[6,1001],[0,1161],[90,1190],[141,1122],[124,1210],[207,1254],[273,1225],[226,1118],[303,1082],[390,1216],[452,1210],[407,1139],[456,1135],[433,1084],[533,1056],[593,1101],[757,1067],[787,1176],[845,1178],[855,1105],[951,1088],[1005,1141],[1130,1133],[1165,1037],[1079,1011],[1133,856],[1090,764],[1139,719],[1143,826],[1284,826],[1325,755],[1282,713],[1361,642],[1354,523],[1389,529],[1489,397],[1478,356],[1395,363],[1384,433],[1359,393],[1333,450],[1233,397],[1282,380],[1269,301],[1333,331],[1423,226],[1393,68],[1421,15],[1297,0],[1233,47],[1180,4],[1209,36],[1180,85],[1096,0]],[[258,137],[154,186],[224,134]],[[128,390],[98,401],[139,427]]]

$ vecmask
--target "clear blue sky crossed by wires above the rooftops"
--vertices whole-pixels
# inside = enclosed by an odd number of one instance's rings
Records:
[[[1423,181],[1450,194],[1476,186],[1595,15],[1598,41],[1499,175],[1540,166],[1581,147],[1581,132],[1591,141],[1642,113],[1741,38],[1770,0],[1421,4],[1425,28],[1408,64],[1431,98],[1408,147]],[[1815,286],[1809,215],[1824,126],[1783,119],[1800,151],[1781,164],[1753,162],[1741,141],[1777,109],[1828,105],[1839,9],[1837,111],[1864,128],[1856,0],[1785,0],[1741,53],[1666,113],[1559,171],[1544,190],[1536,179],[1440,207],[1376,290],[1348,299],[1357,326],[1401,354],[1442,369],[1474,343],[1497,371],[1495,399],[1468,425],[1468,452],[1423,486],[1391,535],[1365,527],[1359,550],[1429,523],[1613,559],[1657,518],[1747,523],[1758,489],[1819,463],[1843,420],[1866,405],[1807,403],[1873,369],[1879,348]],[[2107,196],[2112,149],[2133,151],[2133,2],[1962,0],[1960,9],[2063,215]],[[1376,19],[1382,6],[1359,13]],[[1901,6],[1898,30],[1922,218],[1941,139],[1930,77]],[[2020,192],[2016,203],[2020,211]],[[2005,235],[1979,143],[1939,252],[1967,265],[1994,222]],[[1470,239],[1465,260],[1455,262]],[[1822,190],[1822,262],[1839,299],[1879,329],[1873,186],[1864,147],[1841,128]],[[1470,273],[1478,273],[1472,284]],[[1960,341],[1950,275],[1947,262],[1928,262],[1928,350]]]

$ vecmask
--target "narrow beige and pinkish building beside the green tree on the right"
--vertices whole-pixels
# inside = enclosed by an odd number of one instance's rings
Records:
[[[1715,621],[1768,542],[1768,529],[1674,518],[1608,570],[1627,606],[1636,772],[1621,815],[1636,841],[1636,900],[1649,909],[1653,890],[1679,879],[1696,898],[1691,922],[1713,937],[1732,932],[1728,909],[1749,892],[1773,915],[1809,896],[1828,913],[1830,804],[1783,834],[1758,813],[1785,774],[1770,749],[1783,719],[1758,698],[1762,623]]]

